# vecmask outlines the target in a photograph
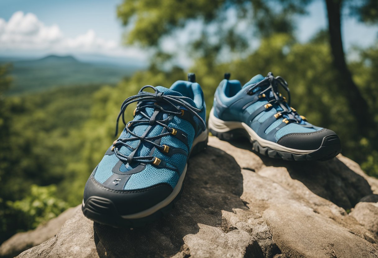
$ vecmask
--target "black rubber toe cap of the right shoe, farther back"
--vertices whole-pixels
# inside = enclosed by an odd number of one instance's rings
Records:
[[[317,150],[321,146],[339,144],[340,139],[335,132],[329,129],[321,129],[310,133],[293,133],[282,136],[278,144],[297,150]],[[340,145],[341,148],[341,145]]]

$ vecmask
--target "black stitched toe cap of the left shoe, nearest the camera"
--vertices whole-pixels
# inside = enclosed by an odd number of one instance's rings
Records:
[[[119,215],[129,215],[160,203],[172,193],[172,190],[172,187],[165,183],[138,190],[114,190],[98,183],[91,175],[85,184],[84,204],[86,206],[88,200],[98,199],[104,204],[99,205],[96,212],[111,212],[113,207],[110,206],[115,206]],[[107,206],[109,209],[104,209]]]

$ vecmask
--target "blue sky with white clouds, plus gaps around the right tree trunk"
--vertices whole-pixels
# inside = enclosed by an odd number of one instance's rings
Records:
[[[97,54],[143,60],[146,58],[144,51],[121,44],[122,26],[116,17],[116,6],[121,2],[2,0],[0,55]],[[324,1],[313,1],[308,12],[309,15],[298,18],[296,34],[303,42],[327,25]],[[2,31],[4,34],[7,25],[20,35],[15,37],[14,32],[6,37],[3,35],[5,40],[2,41]],[[38,35],[31,37],[32,33]],[[366,26],[355,18],[344,18],[342,33],[346,50],[353,44],[370,46],[377,42],[378,26]]]

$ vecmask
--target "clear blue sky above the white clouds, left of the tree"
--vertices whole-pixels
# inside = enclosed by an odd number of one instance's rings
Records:
[[[116,6],[122,0],[2,0],[0,17],[9,20],[16,11],[32,12],[46,25],[56,23],[68,37],[95,29],[102,38],[119,41],[121,24]]]

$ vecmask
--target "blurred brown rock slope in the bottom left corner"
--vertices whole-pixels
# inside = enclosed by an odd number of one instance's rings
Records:
[[[13,235],[0,246],[0,257],[14,257],[26,249],[37,246],[54,237],[59,232],[62,225],[71,218],[78,209],[79,206],[67,209],[58,217],[53,218],[45,224],[39,225],[34,230]]]

